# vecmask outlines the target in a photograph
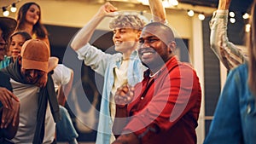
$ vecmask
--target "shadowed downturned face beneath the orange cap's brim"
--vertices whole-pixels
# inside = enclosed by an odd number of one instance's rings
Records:
[[[38,79],[44,75],[44,71],[21,68],[21,75],[27,84],[36,84]]]

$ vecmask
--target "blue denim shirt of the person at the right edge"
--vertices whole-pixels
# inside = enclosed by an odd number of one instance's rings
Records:
[[[255,144],[256,95],[247,84],[247,64],[230,72],[204,144]]]

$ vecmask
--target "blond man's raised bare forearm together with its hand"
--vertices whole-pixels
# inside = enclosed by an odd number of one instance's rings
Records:
[[[95,16],[73,38],[71,48],[78,50],[88,43],[93,32],[96,30],[96,26],[99,25],[105,16],[116,10],[117,8],[115,8],[111,3],[105,3],[102,5]]]

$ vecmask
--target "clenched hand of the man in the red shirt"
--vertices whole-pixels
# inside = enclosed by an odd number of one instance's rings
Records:
[[[134,97],[134,87],[128,84],[124,84],[116,90],[114,95],[114,101],[117,107],[125,107],[129,104]]]

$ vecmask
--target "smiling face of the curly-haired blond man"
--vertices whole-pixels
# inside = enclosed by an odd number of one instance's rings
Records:
[[[131,28],[115,28],[113,30],[113,43],[115,50],[123,54],[137,49],[139,32]]]

